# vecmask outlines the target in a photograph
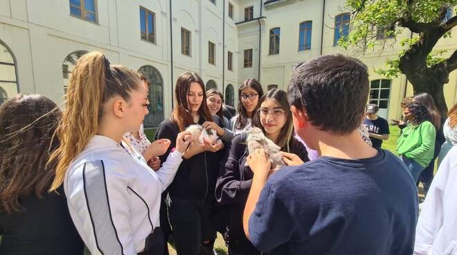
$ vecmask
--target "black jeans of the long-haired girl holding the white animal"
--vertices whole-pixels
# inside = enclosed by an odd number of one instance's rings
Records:
[[[216,229],[210,221],[211,206],[206,200],[171,197],[168,216],[178,255],[213,254]],[[204,241],[209,241],[204,245]]]

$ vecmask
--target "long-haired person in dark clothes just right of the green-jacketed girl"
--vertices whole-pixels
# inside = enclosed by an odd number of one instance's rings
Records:
[[[443,134],[443,125],[445,125],[446,116],[441,116],[440,112],[436,108],[433,98],[427,93],[419,93],[413,96],[413,102],[424,105],[429,110],[431,116],[431,123],[436,129],[435,137],[435,150],[433,151],[433,158],[431,159],[428,166],[422,170],[419,176],[419,181],[424,186],[424,191],[427,194],[431,181],[433,180],[433,170],[435,170],[435,159],[440,154],[440,149],[443,143],[445,143],[445,135]]]

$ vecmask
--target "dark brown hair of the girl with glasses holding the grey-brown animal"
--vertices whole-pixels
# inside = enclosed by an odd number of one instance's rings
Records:
[[[267,91],[267,94],[260,98],[259,109],[252,118],[252,125],[260,128],[264,134],[265,128],[263,128],[262,123],[260,122],[259,110],[262,103],[265,102],[265,100],[274,100],[276,104],[279,105],[285,112],[286,121],[284,127],[281,128],[281,131],[278,136],[278,141],[276,141],[276,145],[279,146],[281,150],[290,152],[291,148],[293,148],[292,143],[295,142],[295,139],[294,123],[292,121],[292,112],[290,111],[289,100],[287,100],[287,93],[280,89],[270,89],[269,91]]]

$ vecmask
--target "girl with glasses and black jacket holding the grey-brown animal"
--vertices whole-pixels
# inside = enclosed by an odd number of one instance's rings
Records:
[[[305,147],[294,138],[292,112],[283,90],[271,89],[260,98],[260,108],[253,117],[253,126],[285,153],[285,162],[290,157],[309,161]],[[245,166],[248,157],[248,134],[238,134],[232,141],[228,158],[219,170],[215,188],[217,202],[228,210],[228,226],[224,236],[228,236],[228,254],[261,254],[253,247],[243,231],[242,215],[247,195],[251,188],[253,173]]]

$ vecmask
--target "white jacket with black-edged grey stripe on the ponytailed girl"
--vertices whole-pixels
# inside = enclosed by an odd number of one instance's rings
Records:
[[[154,172],[137,152],[96,135],[64,179],[71,218],[91,254],[137,254],[159,227],[161,193],[182,161],[177,150]]]

